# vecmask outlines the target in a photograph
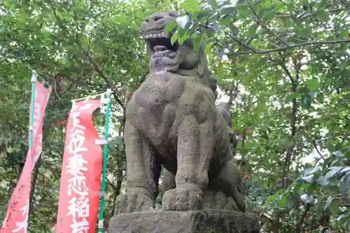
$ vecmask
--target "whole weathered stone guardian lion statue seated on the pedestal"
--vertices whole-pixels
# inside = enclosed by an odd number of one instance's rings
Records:
[[[155,13],[141,27],[151,72],[126,108],[127,193],[118,196],[117,213],[153,209],[162,167],[162,209],[244,212],[230,120],[216,108],[216,81],[204,50],[195,51],[190,40],[172,45],[172,33],[164,33],[178,16]]]

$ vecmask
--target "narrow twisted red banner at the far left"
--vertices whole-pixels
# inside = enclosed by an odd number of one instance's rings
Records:
[[[35,101],[34,101],[34,125],[33,144],[28,150],[25,167],[18,180],[13,195],[8,203],[5,219],[1,226],[1,233],[27,233],[28,227],[28,212],[29,212],[29,195],[31,185],[31,171],[38,160],[42,150],[42,128],[43,115],[48,104],[51,90],[45,88],[41,83],[35,84]],[[29,111],[30,115],[31,111]],[[30,119],[30,116],[29,116]]]

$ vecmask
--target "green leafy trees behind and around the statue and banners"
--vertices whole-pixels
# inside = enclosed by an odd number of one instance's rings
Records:
[[[123,191],[123,110],[148,73],[139,26],[183,13],[172,41],[202,40],[231,103],[246,202],[261,232],[350,231],[350,3],[345,0],[0,3],[0,220],[27,153],[31,69],[52,85],[34,169],[31,232],[55,227],[70,99],[115,91],[106,225]],[[104,115],[96,114],[96,125]]]

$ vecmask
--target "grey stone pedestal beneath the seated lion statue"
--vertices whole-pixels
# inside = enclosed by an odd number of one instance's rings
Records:
[[[258,233],[258,216],[235,211],[142,211],[111,218],[109,233]]]

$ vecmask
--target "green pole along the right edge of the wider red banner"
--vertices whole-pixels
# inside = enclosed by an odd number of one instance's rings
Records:
[[[102,162],[102,188],[101,188],[101,202],[99,203],[99,232],[104,232],[104,196],[106,195],[106,173],[107,173],[107,153],[108,153],[108,139],[109,139],[109,112],[111,108],[111,89],[107,89],[107,109],[106,109],[106,129],[104,132],[104,158]]]

